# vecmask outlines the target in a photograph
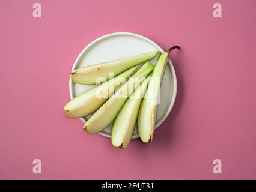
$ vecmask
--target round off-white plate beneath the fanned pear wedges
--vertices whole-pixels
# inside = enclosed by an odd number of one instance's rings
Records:
[[[130,32],[115,32],[108,35],[103,35],[97,38],[90,44],[88,44],[82,52],[76,58],[73,64],[72,71],[85,67],[88,64],[98,64],[102,62],[113,61],[117,59],[129,58],[130,56],[139,55],[142,53],[151,52],[154,50],[159,50],[163,52],[163,49],[154,43],[152,40],[144,37],[142,35],[133,34]],[[155,65],[157,58],[159,58],[160,53],[150,62]],[[70,98],[73,99],[77,95],[81,94],[85,90],[91,88],[94,85],[79,85],[72,82],[70,78],[69,91]],[[162,124],[171,112],[172,106],[175,101],[177,93],[177,79],[174,67],[169,60],[169,65],[167,65],[165,70],[165,75],[163,77],[163,82],[160,92],[160,104],[157,107],[157,118],[156,126]],[[81,118],[82,122],[86,122],[91,115]],[[109,125],[105,130],[99,134],[111,138],[111,128],[112,124]],[[132,139],[138,138],[137,129],[133,133]]]

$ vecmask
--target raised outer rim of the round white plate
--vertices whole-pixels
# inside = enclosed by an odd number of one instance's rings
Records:
[[[160,47],[157,43],[155,43],[150,38],[145,37],[144,35],[135,34],[133,32],[112,32],[110,34],[102,35],[102,36],[96,38],[95,40],[91,41],[91,43],[87,44],[87,46],[85,46],[84,49],[82,49],[82,51],[76,57],[75,62],[73,63],[73,66],[72,66],[72,71],[75,70],[77,63],[78,63],[79,59],[81,58],[81,56],[84,55],[84,52],[86,52],[87,49],[89,49],[91,46],[93,46],[93,44],[96,44],[97,42],[103,40],[104,38],[114,37],[114,36],[118,36],[118,35],[130,35],[133,37],[142,38],[142,40],[145,40],[151,44],[154,44],[154,46],[156,46],[157,49],[160,50],[160,52],[164,52],[162,47]],[[176,77],[175,69],[174,69],[174,66],[172,65],[171,59],[168,59],[168,64],[169,64],[169,67],[171,68],[171,72],[172,72],[173,79],[174,79],[173,97],[172,97],[171,103],[169,104],[168,110],[166,111],[163,118],[160,119],[160,121],[156,124],[156,126],[154,127],[154,130],[156,130],[156,128],[158,128],[165,121],[165,119],[169,116],[169,113],[171,113],[172,107],[174,106],[176,96],[177,96],[177,77]],[[69,95],[70,95],[70,99],[72,100],[74,97],[72,94],[72,79],[71,79],[71,77],[69,79]],[[84,118],[79,118],[79,119],[81,119],[81,121],[84,123],[86,122]],[[111,138],[111,135],[109,136],[109,134],[105,134],[102,131],[99,134],[102,136]],[[137,138],[139,138],[138,134],[135,136],[132,136],[132,139],[137,139]]]

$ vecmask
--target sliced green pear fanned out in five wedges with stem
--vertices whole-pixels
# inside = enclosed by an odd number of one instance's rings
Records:
[[[180,47],[174,46],[161,53],[155,67],[148,60],[154,58],[158,51],[72,71],[73,82],[96,86],[64,106],[67,117],[82,118],[93,113],[83,127],[89,134],[99,133],[114,121],[111,140],[117,148],[129,146],[136,122],[141,140],[152,142],[160,86],[168,54],[175,48]],[[109,74],[114,74],[113,78]]]

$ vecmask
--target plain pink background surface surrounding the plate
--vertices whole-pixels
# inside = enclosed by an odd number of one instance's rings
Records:
[[[255,18],[255,0],[0,0],[0,179],[256,179]],[[62,110],[76,56],[120,31],[182,47],[170,55],[172,112],[151,145],[136,139],[125,151]]]

